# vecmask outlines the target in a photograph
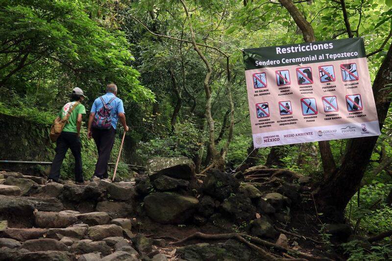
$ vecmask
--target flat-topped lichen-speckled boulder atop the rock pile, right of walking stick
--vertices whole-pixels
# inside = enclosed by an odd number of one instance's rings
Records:
[[[191,180],[195,177],[195,164],[192,160],[185,157],[152,158],[147,162],[146,174],[151,180],[155,180],[162,175]]]

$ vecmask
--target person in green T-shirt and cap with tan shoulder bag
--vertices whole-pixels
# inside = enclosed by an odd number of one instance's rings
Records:
[[[82,125],[82,115],[86,114],[86,108],[81,102],[84,100],[82,89],[76,87],[71,94],[71,102],[68,102],[61,109],[57,120],[63,119],[73,107],[73,111],[65,124],[61,135],[56,143],[56,155],[54,156],[50,168],[49,182],[58,182],[60,178],[60,168],[67,150],[70,148],[75,158],[75,183],[86,185],[82,174],[82,154],[80,144],[80,126]]]

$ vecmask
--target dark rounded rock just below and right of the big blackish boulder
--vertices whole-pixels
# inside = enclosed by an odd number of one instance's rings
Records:
[[[250,221],[256,215],[256,208],[245,195],[229,196],[221,208],[236,222]]]

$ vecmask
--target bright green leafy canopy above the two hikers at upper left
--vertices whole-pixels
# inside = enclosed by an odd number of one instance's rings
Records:
[[[1,102],[13,92],[33,100],[32,108],[53,107],[75,86],[93,98],[108,81],[129,100],[153,99],[129,66],[134,58],[124,33],[90,19],[86,10],[94,6],[87,0],[0,1],[0,86],[8,89]]]

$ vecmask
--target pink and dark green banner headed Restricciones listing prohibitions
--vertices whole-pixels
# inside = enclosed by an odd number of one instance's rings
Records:
[[[361,38],[243,54],[255,148],[380,135]]]

